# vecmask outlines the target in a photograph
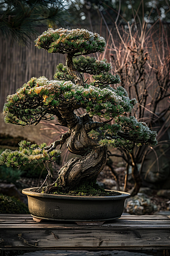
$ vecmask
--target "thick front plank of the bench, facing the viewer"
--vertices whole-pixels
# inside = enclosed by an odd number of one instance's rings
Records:
[[[2,230],[1,247],[45,247],[62,248],[62,247],[79,247],[103,248],[103,247],[169,247],[170,248],[170,229],[155,230],[63,230],[63,229],[39,229],[39,230],[23,230],[12,229]]]

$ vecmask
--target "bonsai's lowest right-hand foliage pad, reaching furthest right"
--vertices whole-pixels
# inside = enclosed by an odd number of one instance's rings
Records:
[[[134,144],[152,144],[155,146],[156,131],[151,131],[146,123],[138,122],[135,117],[118,116],[114,118],[115,124],[105,124],[100,127],[100,132],[92,130],[88,133],[89,137],[99,141],[101,145],[112,146],[114,148],[124,148],[131,152]]]

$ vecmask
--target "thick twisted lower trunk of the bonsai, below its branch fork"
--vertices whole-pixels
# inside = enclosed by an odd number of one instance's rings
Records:
[[[66,190],[73,189],[82,180],[95,179],[103,170],[106,160],[106,147],[88,137],[81,122],[71,129],[67,142],[70,152],[82,155],[82,158],[70,159],[59,171],[57,184]]]

